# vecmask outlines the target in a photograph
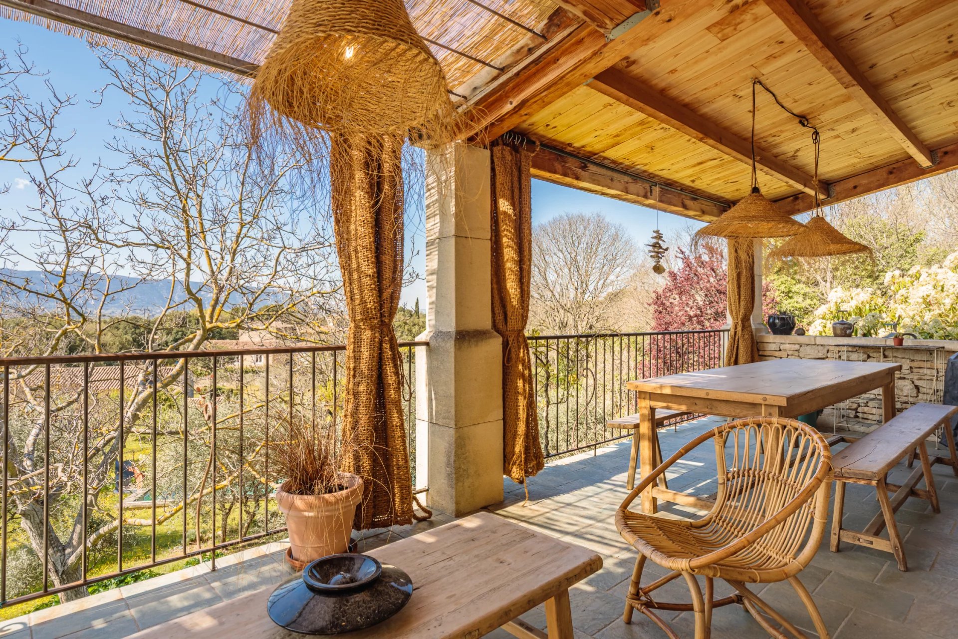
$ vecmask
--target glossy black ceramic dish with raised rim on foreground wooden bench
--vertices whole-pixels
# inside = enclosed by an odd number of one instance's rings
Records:
[[[340,634],[389,619],[412,594],[412,580],[395,566],[366,555],[331,555],[277,586],[266,612],[293,632]]]

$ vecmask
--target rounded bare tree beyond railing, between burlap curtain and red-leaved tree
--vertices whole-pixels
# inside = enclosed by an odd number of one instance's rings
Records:
[[[625,227],[601,214],[564,214],[533,229],[530,325],[542,331],[618,331],[617,308],[635,271]]]

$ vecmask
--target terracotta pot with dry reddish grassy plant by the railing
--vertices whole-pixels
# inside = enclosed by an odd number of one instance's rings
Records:
[[[286,421],[275,432],[277,439],[269,450],[285,478],[275,497],[286,515],[286,559],[302,569],[313,559],[347,552],[356,507],[362,501],[362,479],[338,469],[332,432],[317,435],[302,419]]]

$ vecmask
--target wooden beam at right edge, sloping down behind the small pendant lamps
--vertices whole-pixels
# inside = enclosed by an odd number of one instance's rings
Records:
[[[930,169],[919,167],[914,161],[908,159],[833,182],[833,197],[827,204],[878,193],[878,191],[958,169],[958,144],[938,148],[935,154],[938,155],[938,163]],[[807,194],[792,195],[778,200],[776,204],[790,216],[807,213],[814,206],[811,196]]]

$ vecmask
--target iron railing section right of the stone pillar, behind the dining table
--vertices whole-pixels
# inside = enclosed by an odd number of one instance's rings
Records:
[[[638,410],[629,379],[719,367],[727,341],[727,329],[530,336],[545,456],[628,437],[605,422]]]

